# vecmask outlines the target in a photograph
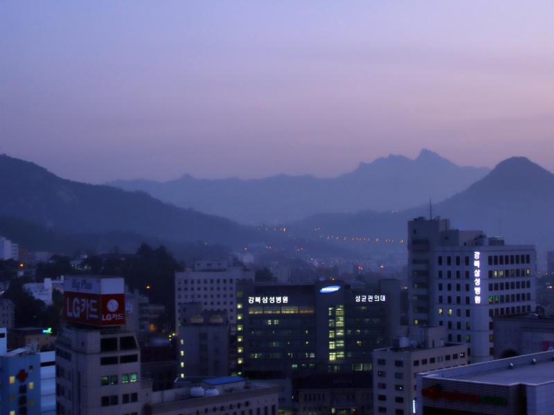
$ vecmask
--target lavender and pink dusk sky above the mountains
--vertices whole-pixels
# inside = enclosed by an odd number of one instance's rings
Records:
[[[554,172],[552,1],[0,2],[0,154],[75,181]]]

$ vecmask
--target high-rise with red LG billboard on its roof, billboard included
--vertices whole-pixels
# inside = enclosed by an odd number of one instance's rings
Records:
[[[141,351],[125,324],[123,278],[66,277],[56,343],[56,413],[139,414]],[[152,389],[150,388],[150,391]]]

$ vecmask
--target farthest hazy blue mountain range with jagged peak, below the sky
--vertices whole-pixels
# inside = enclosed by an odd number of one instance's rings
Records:
[[[239,223],[283,223],[318,213],[404,210],[429,199],[443,201],[489,172],[485,167],[459,167],[423,149],[415,160],[390,155],[360,163],[353,172],[336,178],[280,174],[256,180],[207,180],[186,174],[165,183],[139,179],[106,184],[141,190],[181,208]]]

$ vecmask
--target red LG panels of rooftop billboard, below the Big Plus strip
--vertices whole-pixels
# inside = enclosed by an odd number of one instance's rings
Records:
[[[125,324],[125,295],[64,293],[64,318],[93,326]]]

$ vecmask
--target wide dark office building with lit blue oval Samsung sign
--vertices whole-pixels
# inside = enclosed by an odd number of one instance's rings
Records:
[[[396,279],[370,289],[324,280],[237,290],[238,372],[249,378],[367,371],[373,349],[398,335]]]

